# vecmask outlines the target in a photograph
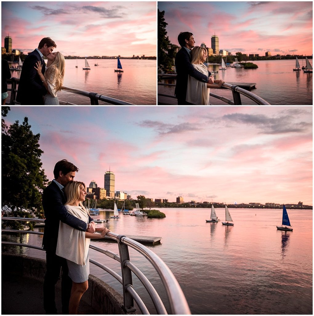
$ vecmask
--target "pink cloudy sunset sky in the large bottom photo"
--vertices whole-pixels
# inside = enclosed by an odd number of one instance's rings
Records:
[[[29,118],[49,180],[57,161],[75,179],[175,202],[312,205],[312,107],[12,106]]]

